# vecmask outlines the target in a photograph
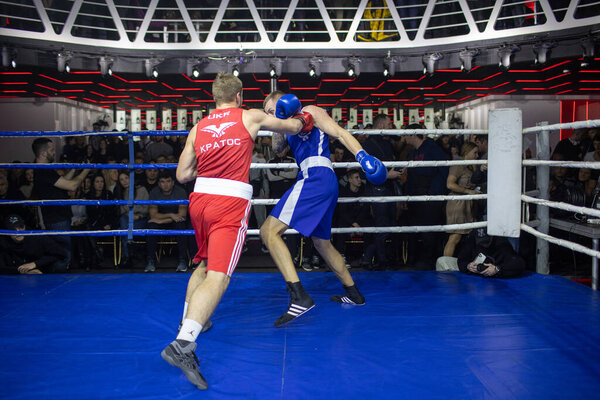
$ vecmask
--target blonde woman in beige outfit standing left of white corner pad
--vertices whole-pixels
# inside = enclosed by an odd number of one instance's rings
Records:
[[[473,142],[467,142],[463,145],[461,156],[465,160],[477,159],[477,145]],[[471,183],[471,175],[473,175],[473,165],[453,165],[450,167],[446,186],[450,190],[451,195],[461,194],[479,194],[475,190],[475,185]],[[448,200],[446,204],[446,223],[464,224],[475,221],[475,212],[473,200]],[[470,229],[459,229],[447,231],[450,234],[448,242],[444,247],[444,256],[452,257],[454,250],[460,242],[461,236],[470,232]]]

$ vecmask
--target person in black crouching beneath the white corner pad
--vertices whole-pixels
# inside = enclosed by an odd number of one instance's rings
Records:
[[[515,252],[508,239],[488,236],[485,229],[473,230],[463,239],[458,258],[440,257],[436,270],[459,270],[488,278],[515,278],[523,274],[525,260]]]

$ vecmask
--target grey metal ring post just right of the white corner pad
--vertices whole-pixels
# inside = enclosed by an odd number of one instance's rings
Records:
[[[542,123],[542,125],[548,125],[547,122]],[[549,132],[541,131],[536,135],[536,153],[538,160],[548,160],[550,159],[550,141],[549,141]],[[548,200],[548,186],[550,182],[550,167],[548,166],[538,166],[536,167],[536,181],[538,185],[538,190],[540,191],[540,199]],[[540,220],[540,225],[538,226],[538,231],[548,234],[548,229],[550,227],[550,209],[549,207],[545,207],[542,205],[537,206],[537,217]],[[539,274],[549,274],[550,269],[548,267],[548,242],[544,239],[537,238],[536,239],[536,271]]]

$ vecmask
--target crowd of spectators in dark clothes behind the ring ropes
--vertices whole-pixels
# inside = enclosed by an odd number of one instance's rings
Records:
[[[344,125],[344,122],[339,122]],[[346,126],[345,126],[346,127]],[[355,126],[347,127],[357,129]],[[387,115],[376,115],[373,125],[366,129],[393,129]],[[413,124],[402,128],[420,129]],[[577,135],[574,135],[577,138]],[[430,161],[452,159],[476,159],[487,156],[487,137],[444,135],[433,140],[426,135],[358,135],[365,150],[383,161]],[[62,147],[49,139],[34,142],[35,162],[52,163],[91,162],[128,163],[126,136],[67,137]],[[331,140],[331,139],[330,139]],[[597,143],[596,143],[597,142]],[[592,143],[593,146],[592,147]],[[141,137],[134,141],[136,164],[176,163],[185,144],[184,136]],[[598,146],[595,146],[598,144]],[[557,147],[557,152],[566,145]],[[590,140],[589,148],[600,149],[600,139]],[[354,161],[351,154],[335,141],[330,142],[331,159],[334,162]],[[57,154],[59,156],[57,156]],[[560,154],[556,153],[555,154]],[[590,157],[595,157],[592,151]],[[294,163],[284,151],[274,154],[270,137],[259,137],[252,155],[254,163]],[[134,171],[135,200],[187,199],[193,187],[181,186],[174,179],[170,168],[139,169]],[[340,184],[340,197],[393,196],[393,195],[444,195],[472,194],[486,191],[485,166],[388,168],[388,179],[382,185],[368,182],[360,169],[336,168]],[[296,181],[297,169],[252,169],[250,183],[254,198],[278,199]],[[560,175],[560,174],[558,174]],[[585,175],[580,172],[580,175]],[[588,174],[589,175],[589,174]],[[554,174],[555,179],[559,179]],[[583,176],[581,179],[584,179]],[[589,176],[588,176],[589,178]],[[127,170],[52,170],[10,169],[0,171],[0,198],[2,199],[88,199],[128,200],[130,173]],[[250,218],[250,228],[258,228],[272,206],[255,205]],[[334,227],[393,227],[412,225],[444,225],[446,223],[474,222],[485,218],[484,204],[473,200],[428,202],[370,202],[339,203],[334,216]],[[3,206],[2,218],[19,215],[31,229],[47,230],[114,230],[128,229],[129,207],[85,206]],[[191,229],[186,205],[136,205],[133,207],[134,229]],[[448,233],[416,234],[343,234],[333,235],[333,243],[346,259],[348,267],[383,269],[390,266],[408,265],[433,269],[438,256],[455,256],[470,230]],[[53,238],[68,253],[65,265],[73,268],[95,269],[103,259],[98,237]],[[152,272],[157,267],[157,236],[134,237],[128,241],[121,236],[121,260],[118,267],[132,268],[141,263],[144,270]],[[174,254],[177,255],[177,271],[186,271],[190,258],[196,252],[193,236],[173,236]],[[298,264],[305,270],[326,267],[310,246],[309,240],[289,235],[287,243]],[[266,252],[266,248],[261,246]],[[247,248],[246,248],[247,249]],[[16,271],[15,271],[16,272]]]

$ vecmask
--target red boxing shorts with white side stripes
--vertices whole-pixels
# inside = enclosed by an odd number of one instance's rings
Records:
[[[250,200],[218,194],[190,194],[190,218],[198,253],[194,262],[208,260],[207,271],[233,274],[242,254]]]

